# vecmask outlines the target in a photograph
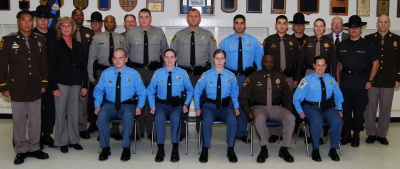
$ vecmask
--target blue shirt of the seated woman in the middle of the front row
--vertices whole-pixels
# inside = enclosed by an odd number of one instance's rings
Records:
[[[194,90],[194,107],[196,109],[200,109],[200,97],[204,88],[206,89],[207,98],[212,100],[217,98],[217,81],[218,72],[215,68],[210,69],[201,75]],[[239,87],[237,85],[236,77],[231,71],[227,69],[222,70],[221,85],[221,99],[231,97],[233,107],[239,108]]]

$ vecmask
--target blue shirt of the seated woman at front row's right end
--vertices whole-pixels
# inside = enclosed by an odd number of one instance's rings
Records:
[[[322,76],[326,87],[326,99],[331,98],[333,95],[336,107],[338,110],[342,109],[343,94],[339,89],[339,85],[331,75],[324,73]],[[304,77],[297,87],[293,95],[293,104],[297,113],[304,112],[301,107],[301,102],[307,100],[309,102],[321,102],[321,80],[317,73],[310,74]]]

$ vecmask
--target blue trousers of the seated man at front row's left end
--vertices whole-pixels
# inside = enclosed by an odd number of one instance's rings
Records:
[[[134,126],[136,105],[121,104],[121,108],[115,110],[115,104],[104,102],[97,115],[97,126],[99,127],[99,141],[102,148],[110,146],[110,125],[109,121],[114,119],[122,120],[122,148],[131,146],[131,135]]]

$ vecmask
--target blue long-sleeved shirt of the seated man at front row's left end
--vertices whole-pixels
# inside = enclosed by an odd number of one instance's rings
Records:
[[[115,103],[115,87],[117,84],[118,69],[110,67],[101,73],[99,83],[93,91],[94,107],[100,107],[103,96],[106,100]],[[131,99],[135,93],[138,95],[137,106],[143,108],[146,101],[146,87],[140,78],[140,74],[127,66],[121,70],[121,102]]]

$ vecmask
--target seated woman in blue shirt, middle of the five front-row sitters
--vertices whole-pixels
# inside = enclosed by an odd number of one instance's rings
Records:
[[[199,78],[194,93],[194,105],[196,116],[202,116],[202,134],[203,148],[201,150],[199,161],[205,163],[208,161],[208,149],[211,147],[210,139],[212,125],[214,120],[225,121],[226,141],[228,143],[228,159],[230,162],[237,162],[234,151],[235,135],[237,129],[236,116],[239,112],[239,87],[235,75],[224,68],[226,62],[226,53],[217,49],[213,55],[215,68],[203,73]],[[203,90],[206,89],[207,99],[200,109],[200,97]],[[231,104],[233,103],[233,106]]]

